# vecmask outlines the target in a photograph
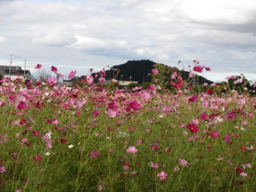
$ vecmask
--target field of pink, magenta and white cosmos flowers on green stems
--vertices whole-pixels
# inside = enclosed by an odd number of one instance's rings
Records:
[[[175,93],[110,90],[98,75],[1,80],[0,191],[256,191],[255,97],[176,74]]]

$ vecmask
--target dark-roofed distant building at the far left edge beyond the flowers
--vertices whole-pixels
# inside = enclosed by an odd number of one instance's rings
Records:
[[[0,75],[3,77],[11,77],[11,80],[22,78],[31,79],[31,73],[29,70],[22,70],[20,66],[12,66],[10,71],[10,66],[0,65]]]

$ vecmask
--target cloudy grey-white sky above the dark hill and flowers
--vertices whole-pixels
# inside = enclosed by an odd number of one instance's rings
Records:
[[[41,63],[67,76],[128,60],[193,60],[207,78],[256,81],[255,0],[0,0],[0,65]]]

